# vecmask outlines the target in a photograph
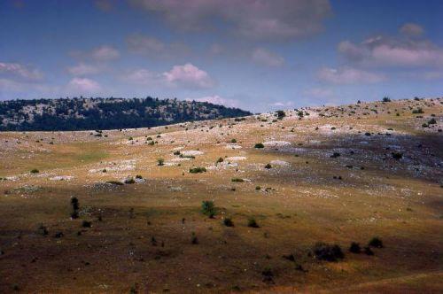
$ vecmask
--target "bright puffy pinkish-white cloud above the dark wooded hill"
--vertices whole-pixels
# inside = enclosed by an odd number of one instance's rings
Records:
[[[214,87],[209,74],[190,63],[174,66],[169,72],[162,74],[165,81],[174,87],[189,89],[206,89]]]

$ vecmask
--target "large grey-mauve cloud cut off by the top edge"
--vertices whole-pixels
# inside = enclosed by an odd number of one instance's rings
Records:
[[[331,14],[329,0],[130,0],[136,8],[157,12],[183,30],[214,29],[223,21],[232,32],[255,39],[291,40],[312,35]],[[220,28],[220,26],[218,26]]]

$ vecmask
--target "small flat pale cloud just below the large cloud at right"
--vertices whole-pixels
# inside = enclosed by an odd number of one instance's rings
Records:
[[[350,67],[340,69],[324,67],[319,71],[318,77],[322,81],[334,84],[376,83],[385,80],[385,76],[382,74],[369,73]]]

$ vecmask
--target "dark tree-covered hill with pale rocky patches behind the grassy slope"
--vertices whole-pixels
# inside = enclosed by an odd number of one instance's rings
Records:
[[[250,115],[206,102],[146,98],[0,101],[0,131],[147,128]]]

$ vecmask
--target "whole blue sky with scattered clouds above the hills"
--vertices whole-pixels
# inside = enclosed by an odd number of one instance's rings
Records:
[[[441,97],[442,19],[441,0],[2,0],[0,100]]]

